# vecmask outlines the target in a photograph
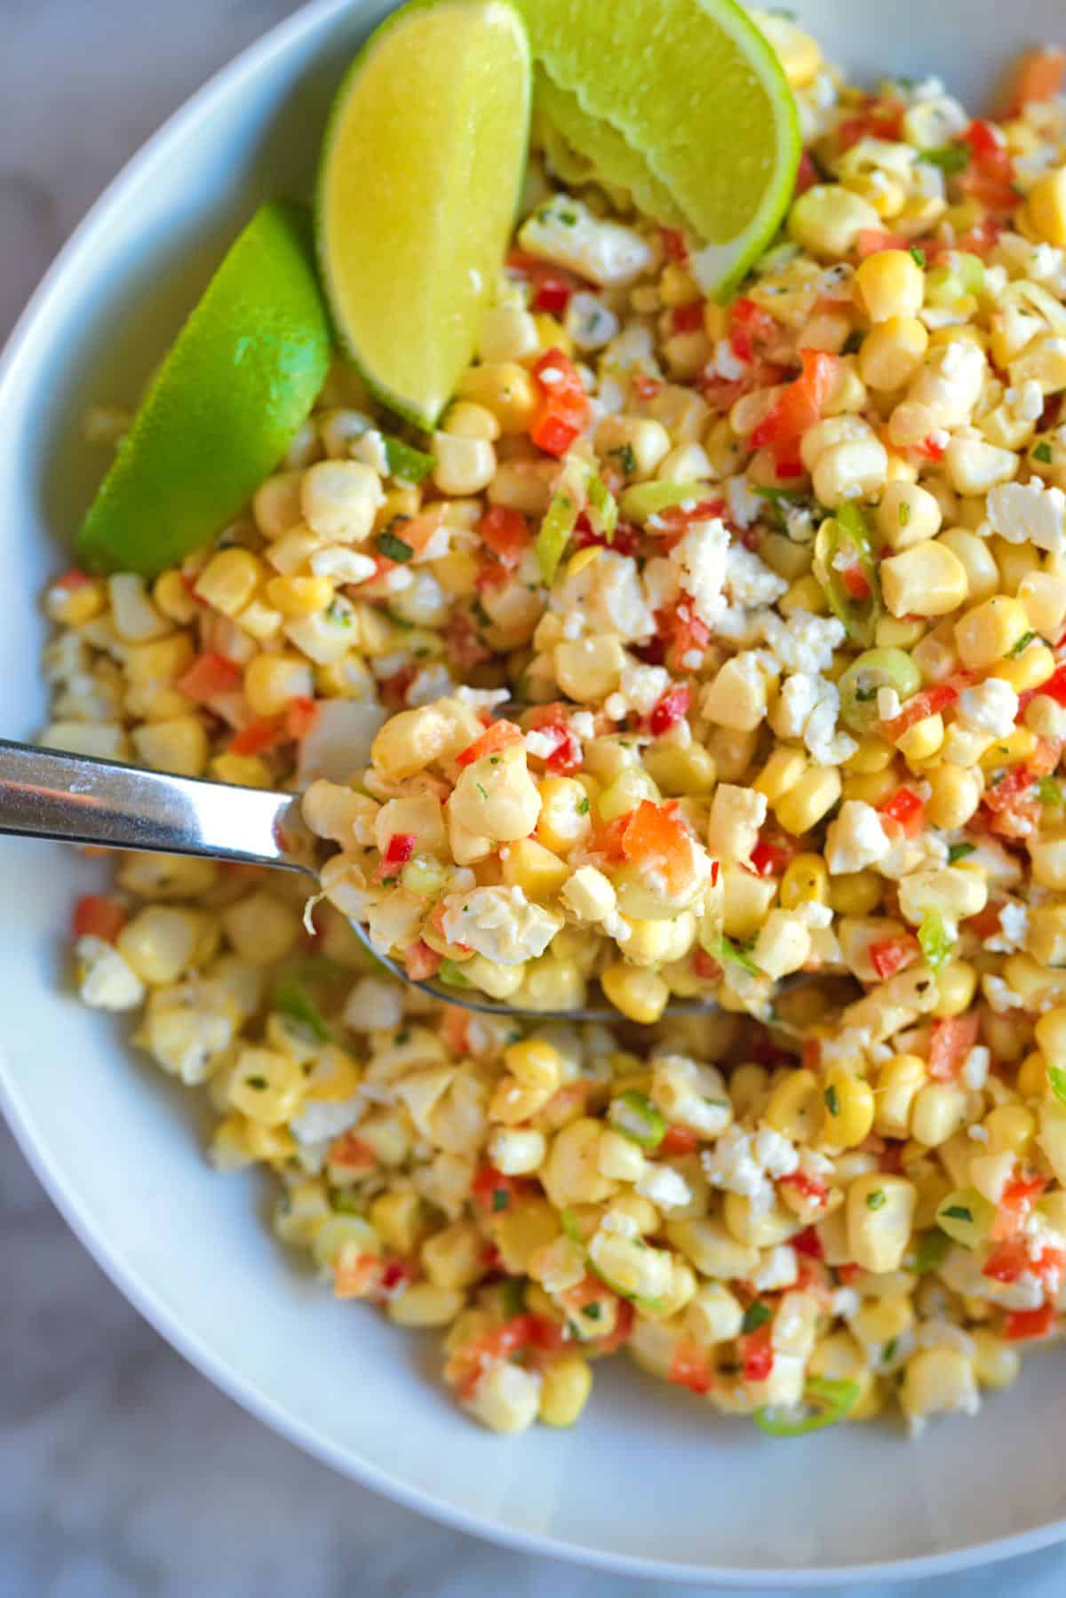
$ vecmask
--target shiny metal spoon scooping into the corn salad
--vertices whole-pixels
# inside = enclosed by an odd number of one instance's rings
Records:
[[[168,855],[205,855],[253,866],[299,871],[318,884],[316,841],[300,815],[299,796],[169,777],[136,765],[62,754],[0,738],[0,833],[48,837],[99,849],[145,849]],[[535,1015],[542,1020],[619,1021],[611,1005],[580,1010],[523,1010],[463,989],[438,988],[408,976],[403,965],[376,949],[366,927],[352,920],[360,943],[393,976],[433,999],[487,1015]],[[668,1015],[708,1015],[714,1000],[671,1004]]]

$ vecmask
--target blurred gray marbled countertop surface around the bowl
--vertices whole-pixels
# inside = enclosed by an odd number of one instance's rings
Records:
[[[0,0],[0,340],[121,163],[288,0]],[[2,940],[16,936],[10,917]],[[0,1127],[0,1598],[665,1598],[419,1520],[216,1392],[74,1240]],[[505,1445],[503,1445],[505,1446]],[[1066,1555],[924,1584],[1052,1598]],[[909,1588],[866,1588],[901,1598]]]

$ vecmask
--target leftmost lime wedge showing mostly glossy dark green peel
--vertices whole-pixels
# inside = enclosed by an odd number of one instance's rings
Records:
[[[97,570],[152,577],[230,521],[329,368],[308,214],[265,205],[171,345],[78,531]]]

